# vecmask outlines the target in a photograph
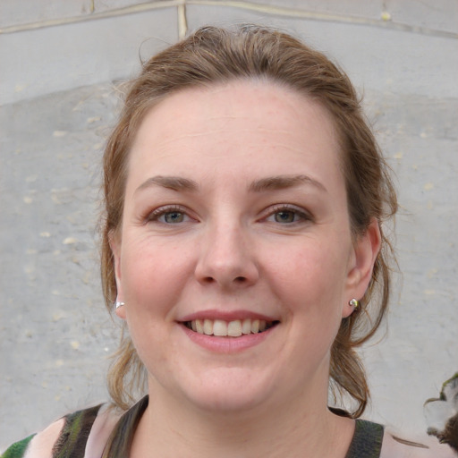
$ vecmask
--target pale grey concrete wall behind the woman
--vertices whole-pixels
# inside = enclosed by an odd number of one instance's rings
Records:
[[[0,450],[106,399],[117,328],[95,231],[113,81],[199,25],[281,27],[342,64],[397,175],[400,270],[380,344],[364,351],[367,416],[426,428],[458,370],[458,4],[454,0],[2,0]]]

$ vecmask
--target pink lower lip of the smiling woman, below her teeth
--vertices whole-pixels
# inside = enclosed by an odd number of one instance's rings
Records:
[[[209,350],[211,352],[218,353],[237,353],[248,350],[251,347],[261,344],[264,342],[269,335],[272,334],[274,329],[277,327],[270,327],[267,331],[257,334],[246,334],[240,337],[218,337],[216,335],[199,334],[192,331],[189,327],[182,327],[182,330],[192,342],[199,346]]]

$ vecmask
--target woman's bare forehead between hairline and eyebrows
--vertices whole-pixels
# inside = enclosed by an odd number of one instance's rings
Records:
[[[336,165],[336,137],[331,115],[317,101],[271,81],[231,81],[183,89],[152,107],[133,141],[130,162],[132,168],[154,167],[156,174],[169,165],[186,172],[194,161],[254,163],[259,170],[268,162],[291,169],[307,157],[311,166]]]

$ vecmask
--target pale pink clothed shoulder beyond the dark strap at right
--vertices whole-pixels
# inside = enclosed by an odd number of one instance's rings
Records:
[[[411,440],[385,430],[380,458],[456,458],[458,455],[436,437],[423,436]]]

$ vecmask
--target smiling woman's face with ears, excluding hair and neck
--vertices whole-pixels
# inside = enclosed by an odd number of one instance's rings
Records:
[[[150,393],[209,410],[326,402],[329,352],[377,225],[353,243],[327,111],[271,82],[186,89],[146,115],[112,241]]]

